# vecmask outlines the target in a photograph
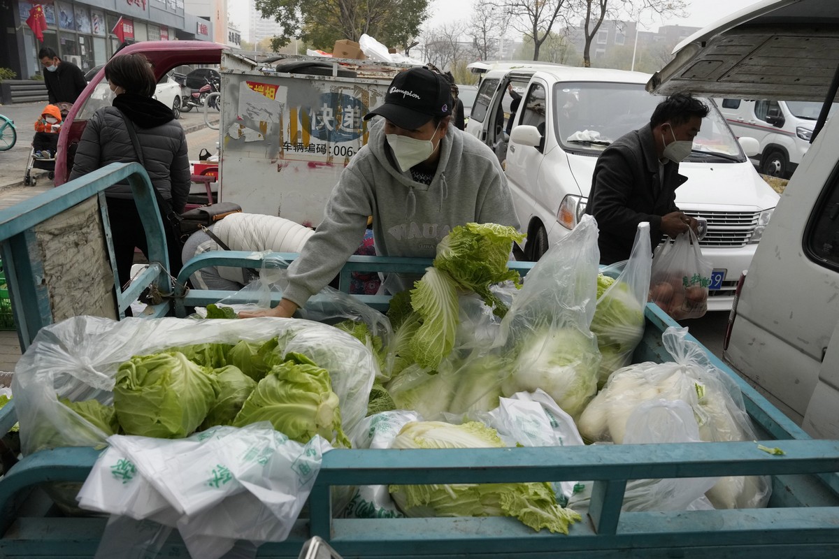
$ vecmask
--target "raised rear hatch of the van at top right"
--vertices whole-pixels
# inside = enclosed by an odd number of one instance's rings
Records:
[[[647,91],[825,101],[836,85],[839,3],[764,0],[706,29],[676,46]]]

